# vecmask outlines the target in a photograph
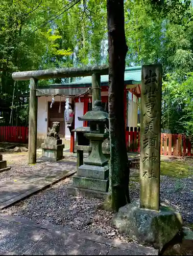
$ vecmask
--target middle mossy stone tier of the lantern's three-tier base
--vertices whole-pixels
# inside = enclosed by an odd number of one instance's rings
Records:
[[[82,187],[107,192],[109,188],[109,179],[100,180],[74,175],[73,185],[75,187]]]

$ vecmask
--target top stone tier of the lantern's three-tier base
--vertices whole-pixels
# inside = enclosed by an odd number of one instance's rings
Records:
[[[105,180],[109,177],[109,167],[83,164],[79,166],[77,176]]]

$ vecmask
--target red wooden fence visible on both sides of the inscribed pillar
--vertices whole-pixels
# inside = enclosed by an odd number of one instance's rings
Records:
[[[184,134],[161,133],[160,154],[164,156],[193,156],[193,145]],[[127,127],[126,146],[128,152],[140,152],[140,128]]]

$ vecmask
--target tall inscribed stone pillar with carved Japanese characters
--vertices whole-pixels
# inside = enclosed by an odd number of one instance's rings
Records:
[[[140,208],[159,210],[161,64],[142,66]]]

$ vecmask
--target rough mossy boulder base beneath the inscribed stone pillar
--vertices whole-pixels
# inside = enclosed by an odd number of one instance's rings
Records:
[[[182,229],[182,217],[174,208],[160,205],[159,211],[139,207],[139,200],[120,207],[112,224],[145,246],[161,250]]]

